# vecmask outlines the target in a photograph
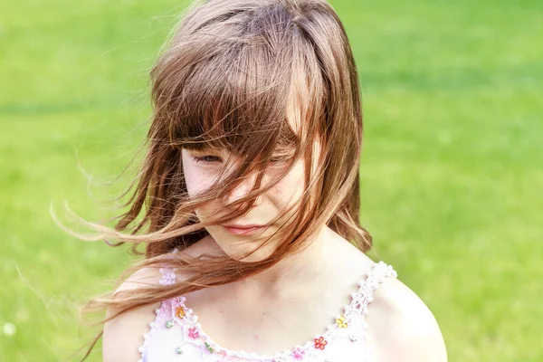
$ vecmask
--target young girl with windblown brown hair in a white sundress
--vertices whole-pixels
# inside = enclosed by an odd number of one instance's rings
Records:
[[[146,243],[90,305],[104,361],[446,360],[424,302],[365,254],[357,68],[325,0],[195,3],[151,80],[129,211],[94,225]]]

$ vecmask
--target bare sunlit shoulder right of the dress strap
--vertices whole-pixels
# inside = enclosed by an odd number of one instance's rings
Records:
[[[446,362],[433,313],[402,281],[387,278],[368,306],[368,338],[376,361]]]

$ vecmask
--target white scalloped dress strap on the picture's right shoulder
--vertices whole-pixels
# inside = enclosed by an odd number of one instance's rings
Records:
[[[387,277],[397,278],[397,276],[392,266],[385,262],[376,262],[366,280],[359,282],[360,289],[352,295],[353,300],[348,305],[346,314],[356,313],[365,317],[367,315],[367,305],[373,301],[373,293],[379,284],[385,281]]]

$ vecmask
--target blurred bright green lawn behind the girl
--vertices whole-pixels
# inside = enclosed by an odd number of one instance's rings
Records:
[[[433,310],[451,361],[543,361],[543,2],[331,3],[363,87],[376,258]],[[90,196],[80,166],[110,180],[138,149],[147,72],[183,5],[0,4],[1,361],[75,360],[96,330],[76,306],[131,262],[62,233],[49,205],[101,217],[127,185]]]

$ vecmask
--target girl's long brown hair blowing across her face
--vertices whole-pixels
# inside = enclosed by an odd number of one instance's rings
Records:
[[[143,165],[125,194],[128,211],[114,228],[85,224],[97,231],[92,240],[133,243],[134,248],[146,244],[146,258],[129,272],[167,264],[191,277],[167,287],[97,298],[88,310],[118,310],[112,319],[143,305],[239,281],[306,248],[322,224],[363,252],[371,247],[358,221],[362,111],[357,67],[345,29],[326,1],[195,1],[150,78],[152,123]],[[293,124],[300,130],[294,131]],[[313,167],[316,140],[322,152]],[[189,199],[181,150],[210,147],[228,149],[248,162]],[[254,200],[276,185],[281,177],[270,185],[260,181],[277,149],[293,150],[281,176],[298,159],[306,175],[291,220],[273,235],[281,241],[275,251],[259,262],[184,253],[205,237],[207,226],[247,214]],[[222,200],[252,173],[258,175],[255,186],[227,205],[228,215],[198,220],[195,209]],[[174,248],[181,252],[170,253]]]

